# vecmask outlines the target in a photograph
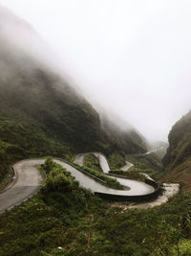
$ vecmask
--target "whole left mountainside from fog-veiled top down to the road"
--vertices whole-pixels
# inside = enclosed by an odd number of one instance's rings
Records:
[[[23,157],[140,151],[131,141],[136,131],[121,137],[101,127],[96,110],[58,75],[53,54],[28,23],[0,6],[0,27],[0,180],[7,163]]]

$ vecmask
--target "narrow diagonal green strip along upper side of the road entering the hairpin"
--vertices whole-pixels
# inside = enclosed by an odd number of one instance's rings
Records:
[[[79,166],[77,164],[73,164],[74,166],[76,166],[78,169],[82,169],[85,172],[89,173],[90,175],[94,175],[96,177],[98,177],[99,179],[103,180],[106,186],[113,188],[113,189],[118,189],[118,190],[123,190],[123,186],[117,181],[116,178],[110,177],[108,175],[104,175],[103,173],[100,173],[96,170],[90,169],[88,167],[85,166]]]

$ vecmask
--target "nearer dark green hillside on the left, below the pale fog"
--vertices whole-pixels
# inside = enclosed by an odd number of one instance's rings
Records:
[[[30,68],[25,67],[23,58],[1,50],[0,178],[7,164],[23,157],[71,158],[75,151],[95,150],[100,133],[96,110],[50,70],[36,68],[29,58]]]

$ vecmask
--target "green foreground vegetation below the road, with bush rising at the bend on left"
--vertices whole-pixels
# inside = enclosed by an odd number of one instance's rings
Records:
[[[0,216],[0,255],[190,255],[191,195],[123,210],[80,188],[51,158],[45,169],[38,195]]]

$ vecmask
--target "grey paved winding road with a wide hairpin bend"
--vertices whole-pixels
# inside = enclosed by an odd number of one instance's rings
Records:
[[[106,158],[103,155],[100,157],[100,155],[98,155],[99,153],[96,154],[100,161],[102,161],[102,167],[105,168],[105,173],[108,173],[109,165]],[[79,163],[82,158],[77,156],[77,159],[79,160],[75,162]],[[76,170],[70,164],[58,159],[53,160],[71,172],[75,179],[79,181],[80,186],[92,190],[93,193],[98,192],[117,196],[139,196],[154,192],[154,188],[144,182],[119,177],[117,177],[118,182],[125,187],[129,187],[129,190],[110,189],[97,182],[96,179]],[[39,185],[42,183],[42,177],[37,170],[36,165],[41,165],[44,162],[45,159],[30,159],[20,161],[13,166],[16,179],[11,184],[11,187],[0,194],[0,213],[11,209],[28,198],[31,198],[38,191]]]

